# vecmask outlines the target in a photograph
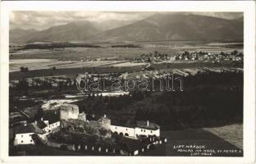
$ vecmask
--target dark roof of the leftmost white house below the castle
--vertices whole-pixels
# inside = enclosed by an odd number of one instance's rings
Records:
[[[39,133],[39,134],[43,134],[43,130],[41,130],[34,123],[28,124],[28,125],[21,124],[21,125],[17,126],[14,131],[15,131],[15,134],[25,134],[25,133]]]

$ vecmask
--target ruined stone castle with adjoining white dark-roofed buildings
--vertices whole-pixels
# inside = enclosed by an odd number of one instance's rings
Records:
[[[112,124],[111,120],[104,116],[88,116],[85,112],[79,113],[79,107],[74,104],[63,104],[58,110],[43,112],[41,119],[32,123],[24,123],[16,127],[14,145],[34,144],[34,134],[45,138],[62,126],[62,120],[78,119],[81,121],[98,121],[106,125],[114,134],[120,134],[131,139],[138,139],[140,136],[160,137],[160,126],[149,121],[136,121],[135,124],[121,125]]]

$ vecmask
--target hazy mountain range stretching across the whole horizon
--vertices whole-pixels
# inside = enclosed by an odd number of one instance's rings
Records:
[[[164,41],[243,39],[243,17],[155,14],[140,21],[77,21],[47,30],[10,30],[10,43],[55,41]]]

